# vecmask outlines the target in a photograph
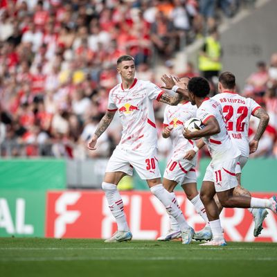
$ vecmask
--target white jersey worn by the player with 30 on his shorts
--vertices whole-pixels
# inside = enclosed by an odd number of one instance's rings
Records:
[[[122,148],[145,151],[157,147],[153,100],[159,100],[162,94],[156,84],[137,79],[129,89],[118,84],[109,91],[108,111],[118,111],[123,125]]]

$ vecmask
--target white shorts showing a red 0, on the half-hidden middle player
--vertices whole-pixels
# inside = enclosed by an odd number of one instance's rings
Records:
[[[163,173],[163,178],[176,181],[181,185],[196,183],[195,163],[186,159],[179,161],[177,159],[170,159]]]

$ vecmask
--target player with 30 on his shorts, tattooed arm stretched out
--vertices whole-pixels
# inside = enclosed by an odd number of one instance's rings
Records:
[[[90,150],[96,149],[98,137],[105,132],[118,111],[123,133],[120,143],[109,159],[102,183],[102,189],[105,191],[111,213],[116,219],[118,231],[105,242],[132,240],[117,185],[125,175],[132,175],[135,168],[141,179],[146,179],[151,192],[177,220],[181,227],[183,243],[189,244],[194,231],[188,226],[177,204],[172,202],[172,195],[161,184],[157,160],[157,129],[152,104],[156,99],[169,105],[177,105],[182,96],[179,93],[171,96],[151,82],[136,80],[134,58],[129,55],[118,58],[117,71],[122,83],[109,91],[107,112],[87,145]]]

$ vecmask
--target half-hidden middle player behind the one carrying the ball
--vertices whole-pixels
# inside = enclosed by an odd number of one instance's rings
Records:
[[[188,84],[188,80],[189,78],[186,77],[180,78],[180,81],[184,82],[185,86]],[[173,82],[173,85],[174,84]],[[172,197],[176,199],[173,190],[177,184],[181,184],[188,200],[195,206],[197,213],[208,223],[204,205],[197,191],[197,178],[195,172],[196,157],[193,159],[186,159],[186,157],[188,157],[188,152],[193,149],[197,152],[197,148],[194,147],[193,141],[188,141],[182,134],[184,123],[186,120],[196,116],[196,110],[197,108],[185,99],[181,100],[177,106],[166,106],[163,116],[162,136],[166,139],[172,139],[172,154],[163,175],[163,186],[172,194]],[[209,232],[206,231],[203,238],[205,240],[211,240],[211,229],[208,227],[208,230]],[[181,230],[178,222],[174,217],[170,216],[170,229],[166,235],[162,235],[157,238],[157,240],[173,240],[180,235]]]

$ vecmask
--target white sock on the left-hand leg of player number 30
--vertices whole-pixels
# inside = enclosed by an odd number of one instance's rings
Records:
[[[109,209],[116,218],[118,231],[129,231],[129,226],[123,211],[123,201],[120,194],[118,193],[117,186],[114,184],[102,182],[102,189],[105,191]]]

